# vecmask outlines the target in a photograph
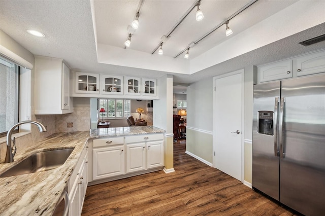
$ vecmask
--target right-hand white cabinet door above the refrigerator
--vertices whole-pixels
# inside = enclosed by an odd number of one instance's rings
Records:
[[[325,50],[296,59],[297,77],[325,72]]]

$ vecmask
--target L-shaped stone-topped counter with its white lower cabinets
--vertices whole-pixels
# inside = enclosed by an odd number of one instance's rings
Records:
[[[147,163],[144,164],[143,171],[161,170],[164,167],[164,132],[164,130],[153,126],[91,129],[90,134],[89,131],[63,132],[52,134],[26,150],[18,149],[15,162],[1,163],[0,173],[37,152],[69,148],[74,150],[66,162],[55,169],[0,177],[2,197],[6,197],[0,203],[0,214],[51,215],[61,194],[67,191],[70,199],[69,215],[80,215],[87,182],[93,180],[92,164],[95,164],[95,161],[92,163],[93,155],[98,155],[99,161],[104,160],[99,169],[96,169],[98,179],[101,178],[100,181],[112,181],[112,178],[107,177],[107,173],[101,174],[114,169],[118,161],[106,163],[105,159],[115,160],[114,153],[116,152],[123,160],[120,164],[122,165],[122,172],[119,176],[114,172],[115,177],[121,178],[121,176],[127,177],[129,173],[132,175],[141,173],[138,169],[138,160],[133,161],[132,158],[128,160],[128,155],[138,152],[138,146],[141,146],[141,152],[148,153],[147,155],[143,154],[148,159],[147,161],[144,160]],[[140,138],[144,140],[140,141]],[[151,138],[155,140],[151,141]],[[102,142],[96,144],[95,140],[105,140],[105,144]],[[115,140],[123,140],[123,142],[115,143]],[[95,144],[94,148],[93,143]],[[107,146],[104,147],[103,145]],[[116,148],[121,148],[121,151],[112,150]],[[159,154],[159,157],[156,154]],[[138,157],[138,155],[135,156]],[[157,163],[157,158],[159,163]],[[133,169],[133,165],[137,166],[137,169]]]

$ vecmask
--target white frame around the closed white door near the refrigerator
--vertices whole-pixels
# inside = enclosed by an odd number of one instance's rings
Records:
[[[216,151],[216,107],[215,107],[215,102],[216,102],[216,80],[222,79],[225,77],[230,77],[233,75],[242,75],[242,89],[241,89],[241,97],[242,97],[242,109],[241,109],[241,182],[244,183],[244,144],[245,144],[245,70],[244,69],[239,69],[236,71],[233,71],[228,74],[220,75],[213,77],[213,86],[214,86],[214,91],[213,91],[213,113],[212,113],[212,119],[213,119],[213,124],[212,124],[212,130],[213,130],[213,147],[212,147],[212,167],[215,166],[215,151]]]

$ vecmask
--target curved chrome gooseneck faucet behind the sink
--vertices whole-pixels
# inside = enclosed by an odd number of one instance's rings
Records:
[[[14,143],[14,152],[13,152],[13,149],[11,147],[11,134],[12,134],[12,131],[19,125],[22,125],[22,124],[34,124],[36,125],[40,132],[45,132],[46,131],[46,128],[45,126],[40,123],[40,122],[37,122],[37,121],[22,121],[22,122],[18,122],[17,124],[15,124],[14,126],[12,126],[9,130],[8,130],[8,133],[7,133],[7,154],[6,154],[6,159],[5,159],[5,163],[11,163],[11,162],[14,162],[14,156],[16,154],[16,151],[17,151],[17,148],[16,148],[16,139],[15,137],[12,139],[13,143]]]

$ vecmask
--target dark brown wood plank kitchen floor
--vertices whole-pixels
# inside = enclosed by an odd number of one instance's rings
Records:
[[[174,143],[173,173],[88,187],[82,215],[297,215],[184,152]]]

